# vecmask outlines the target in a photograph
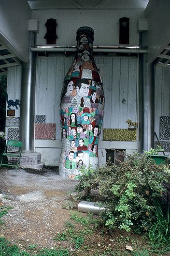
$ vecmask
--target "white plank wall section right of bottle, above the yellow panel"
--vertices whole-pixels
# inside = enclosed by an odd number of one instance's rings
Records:
[[[106,99],[103,128],[128,128],[127,119],[137,121],[137,58],[101,59]]]

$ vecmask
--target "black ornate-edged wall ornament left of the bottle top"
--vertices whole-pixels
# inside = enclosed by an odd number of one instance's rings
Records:
[[[56,44],[56,38],[57,38],[56,19],[53,19],[53,18],[47,19],[47,22],[45,23],[45,26],[47,28],[47,32],[44,36],[44,38],[46,39],[46,44],[47,45]]]

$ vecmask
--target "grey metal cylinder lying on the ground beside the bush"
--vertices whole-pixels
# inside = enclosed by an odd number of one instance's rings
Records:
[[[95,215],[99,215],[102,210],[105,209],[105,206],[99,207],[94,202],[81,201],[78,204],[78,210],[85,213],[93,213]]]

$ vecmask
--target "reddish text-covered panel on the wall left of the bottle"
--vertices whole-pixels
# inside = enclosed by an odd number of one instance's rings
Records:
[[[35,139],[56,140],[56,124],[35,124]]]

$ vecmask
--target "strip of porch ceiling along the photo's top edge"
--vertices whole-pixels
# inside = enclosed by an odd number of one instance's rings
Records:
[[[149,0],[28,0],[31,9],[145,9]]]

